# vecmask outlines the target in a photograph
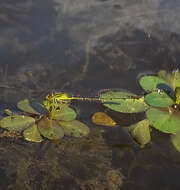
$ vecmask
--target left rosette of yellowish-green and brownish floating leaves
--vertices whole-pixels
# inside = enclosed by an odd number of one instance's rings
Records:
[[[75,121],[70,124],[76,124],[74,127],[75,137],[78,136],[76,134],[78,131],[81,131],[79,134],[83,134],[82,136],[89,133],[82,130],[82,126],[86,128],[86,131],[89,128],[80,121],[75,120],[76,112],[67,104],[61,106],[51,105],[50,110],[46,110],[43,105],[25,99],[18,102],[17,107],[23,111],[21,112],[23,115],[17,115],[11,110],[5,110],[5,113],[9,116],[0,120],[0,126],[8,131],[23,131],[24,139],[27,141],[42,142],[42,136],[50,140],[60,140],[64,136],[64,129],[58,123],[60,121],[66,122],[66,125],[68,125],[68,122]]]

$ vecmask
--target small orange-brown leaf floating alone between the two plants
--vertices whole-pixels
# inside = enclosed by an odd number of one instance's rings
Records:
[[[103,125],[103,126],[116,126],[116,122],[108,116],[104,112],[96,112],[92,116],[92,122],[95,123],[96,125]]]

